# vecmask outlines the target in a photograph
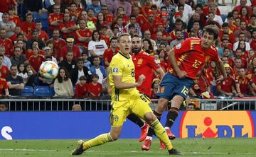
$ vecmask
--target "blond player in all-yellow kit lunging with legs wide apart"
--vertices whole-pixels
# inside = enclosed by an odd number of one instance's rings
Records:
[[[73,151],[72,155],[80,155],[92,146],[99,146],[117,140],[122,131],[122,124],[129,113],[136,114],[151,125],[156,136],[166,145],[169,154],[181,154],[171,145],[164,127],[156,119],[156,116],[149,107],[151,100],[137,90],[137,86],[142,85],[145,76],[139,76],[139,80],[135,82],[134,64],[129,54],[132,49],[131,37],[128,34],[119,35],[117,43],[119,45],[119,52],[114,55],[110,62],[110,72],[108,75],[112,89],[111,130],[109,133],[101,134],[89,141],[78,141],[79,146]]]

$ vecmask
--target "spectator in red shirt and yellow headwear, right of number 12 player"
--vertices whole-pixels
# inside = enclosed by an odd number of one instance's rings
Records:
[[[238,95],[235,91],[235,79],[231,75],[231,67],[229,64],[224,64],[227,78],[222,81],[217,81],[217,94],[221,96]]]

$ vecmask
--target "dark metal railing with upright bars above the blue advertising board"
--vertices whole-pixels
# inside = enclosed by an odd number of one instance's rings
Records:
[[[111,100],[107,98],[4,98],[0,99],[1,102],[6,102],[10,111],[68,111],[75,104],[80,104],[86,111],[111,110]],[[156,107],[157,102],[157,99],[152,100],[151,107]],[[201,110],[256,110],[255,99],[197,99],[193,102]]]

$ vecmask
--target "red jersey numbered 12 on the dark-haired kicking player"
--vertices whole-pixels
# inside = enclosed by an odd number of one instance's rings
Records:
[[[203,65],[209,60],[213,62],[220,60],[218,51],[213,45],[211,45],[208,50],[203,50],[201,42],[201,39],[191,37],[174,47],[178,67],[182,71],[186,71],[188,78],[191,79],[196,78],[198,71],[200,71]],[[169,72],[176,75],[176,72],[172,69],[170,69]]]

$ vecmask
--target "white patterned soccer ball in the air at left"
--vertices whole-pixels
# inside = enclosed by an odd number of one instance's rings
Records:
[[[46,61],[41,64],[39,72],[45,79],[55,79],[58,75],[58,69],[58,64],[53,61]]]

